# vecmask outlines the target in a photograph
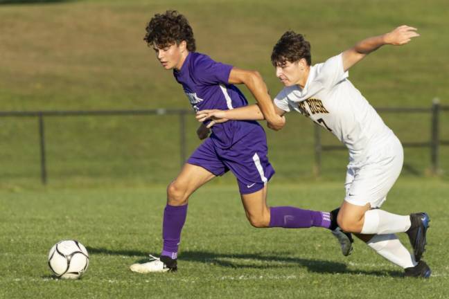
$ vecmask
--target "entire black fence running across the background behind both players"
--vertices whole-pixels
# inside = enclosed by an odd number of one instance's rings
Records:
[[[429,147],[431,156],[432,173],[439,172],[439,146],[449,145],[449,141],[439,138],[439,115],[441,111],[449,111],[449,106],[439,104],[436,99],[430,108],[377,108],[376,111],[386,113],[407,113],[407,114],[431,114],[430,141],[425,143],[404,142],[404,147]],[[144,109],[144,110],[97,110],[97,111],[0,111],[1,117],[9,118],[37,118],[39,127],[39,153],[41,181],[47,183],[46,171],[46,139],[45,139],[45,118],[54,116],[79,117],[79,116],[179,116],[179,157],[181,165],[186,161],[186,115],[193,114],[193,111],[186,109]],[[346,149],[343,145],[322,145],[321,129],[315,126],[315,174],[319,175],[322,167],[322,152]]]

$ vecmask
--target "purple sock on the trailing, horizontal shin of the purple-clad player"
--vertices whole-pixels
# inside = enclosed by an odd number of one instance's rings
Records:
[[[294,207],[270,208],[270,227],[309,228],[310,226],[329,228],[331,214]]]

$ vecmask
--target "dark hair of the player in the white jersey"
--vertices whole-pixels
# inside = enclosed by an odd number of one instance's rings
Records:
[[[301,58],[304,58],[309,66],[312,64],[310,43],[299,33],[285,32],[273,47],[272,64],[279,66],[285,62],[297,62]]]

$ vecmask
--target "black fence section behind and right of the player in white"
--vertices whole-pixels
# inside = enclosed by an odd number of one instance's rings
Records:
[[[430,140],[428,142],[402,142],[403,147],[428,147],[430,149],[430,165],[432,174],[439,174],[439,147],[449,145],[449,141],[440,139],[439,118],[443,111],[449,111],[449,106],[440,105],[438,98],[434,98],[429,108],[380,107],[376,111],[396,114],[431,114]],[[322,152],[346,149],[344,145],[323,145],[321,127],[315,125],[315,175],[319,176],[322,169]]]

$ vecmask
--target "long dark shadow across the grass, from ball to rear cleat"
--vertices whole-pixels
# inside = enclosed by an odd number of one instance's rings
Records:
[[[113,251],[105,248],[87,247],[91,254],[106,255],[128,255],[128,256],[148,256],[148,253],[141,251]],[[270,253],[211,253],[207,251],[182,251],[180,257],[183,261],[202,262],[213,266],[222,266],[233,269],[272,269],[272,268],[293,268],[306,267],[308,271],[314,273],[327,274],[355,274],[355,275],[375,275],[403,277],[400,271],[365,271],[349,270],[347,265],[341,262],[332,262],[328,260],[303,259],[299,257],[288,257],[288,253],[270,254]],[[155,254],[158,256],[158,254]],[[136,262],[148,262],[148,258],[137,260]]]

